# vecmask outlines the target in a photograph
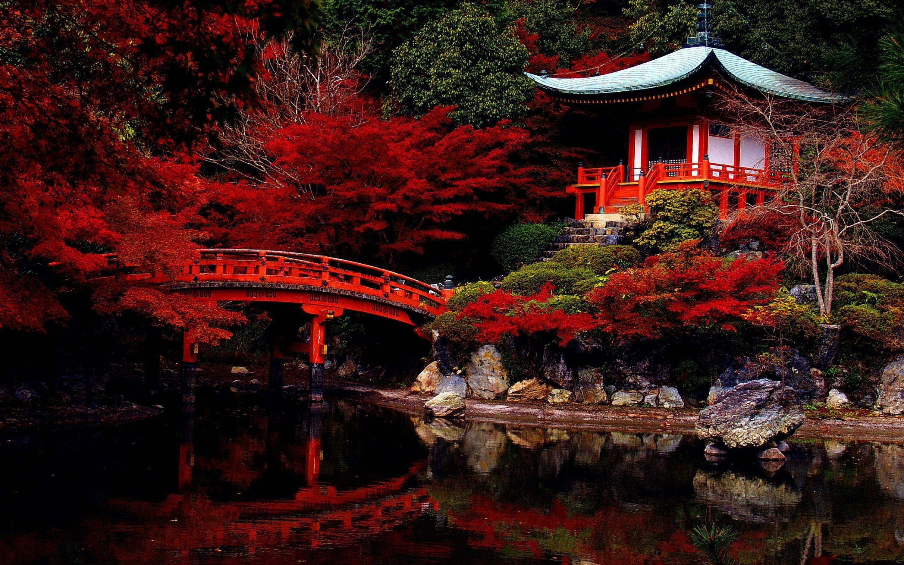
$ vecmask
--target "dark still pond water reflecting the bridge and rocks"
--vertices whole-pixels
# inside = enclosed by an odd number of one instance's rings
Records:
[[[899,445],[797,441],[769,473],[677,435],[199,401],[0,438],[0,562],[696,563],[710,523],[742,563],[904,560]]]

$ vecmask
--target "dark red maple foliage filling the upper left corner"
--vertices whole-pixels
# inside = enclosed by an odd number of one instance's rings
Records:
[[[55,293],[105,267],[103,251],[154,263],[194,247],[183,226],[196,168],[174,155],[253,102],[240,25],[305,30],[304,46],[308,15],[301,0],[23,0],[0,11],[0,328],[66,318]],[[52,262],[65,265],[62,283]]]

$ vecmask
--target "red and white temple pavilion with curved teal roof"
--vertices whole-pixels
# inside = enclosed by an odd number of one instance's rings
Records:
[[[566,188],[576,197],[575,219],[645,204],[646,194],[661,188],[709,190],[724,215],[762,203],[788,183],[788,164],[770,162],[766,144],[718,121],[711,105],[715,90],[816,104],[846,99],[725,51],[711,34],[710,7],[700,5],[695,36],[653,61],[585,78],[528,73],[563,103],[627,118],[626,163],[579,165],[577,182]]]

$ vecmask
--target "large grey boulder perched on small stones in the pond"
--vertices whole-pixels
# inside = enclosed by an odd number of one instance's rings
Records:
[[[741,382],[723,392],[697,419],[697,435],[730,448],[763,447],[804,423],[797,392],[769,379]]]

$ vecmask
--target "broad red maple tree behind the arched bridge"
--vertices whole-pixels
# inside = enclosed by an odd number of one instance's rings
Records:
[[[510,220],[534,191],[528,170],[514,163],[527,132],[454,127],[449,109],[361,124],[311,114],[279,130],[268,144],[278,187],[221,184],[210,229],[235,245],[396,267],[428,244]]]

